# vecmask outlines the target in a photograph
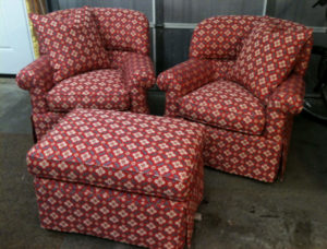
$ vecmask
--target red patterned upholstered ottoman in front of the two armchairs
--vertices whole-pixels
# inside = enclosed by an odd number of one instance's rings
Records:
[[[204,127],[75,109],[27,154],[41,227],[149,248],[191,245]]]

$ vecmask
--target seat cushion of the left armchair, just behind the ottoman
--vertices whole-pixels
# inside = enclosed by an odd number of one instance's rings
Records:
[[[47,94],[47,103],[52,111],[76,107],[125,110],[130,107],[130,96],[121,71],[104,69],[59,82]]]

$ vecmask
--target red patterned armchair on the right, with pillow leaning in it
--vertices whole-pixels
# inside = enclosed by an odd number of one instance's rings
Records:
[[[207,19],[190,59],[157,79],[166,116],[207,124],[205,165],[272,182],[284,171],[312,45],[312,31],[290,21]]]

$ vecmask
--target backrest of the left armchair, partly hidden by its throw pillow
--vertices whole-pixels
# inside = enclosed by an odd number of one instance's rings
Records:
[[[107,50],[149,54],[149,24],[145,14],[114,8],[92,8],[92,10]],[[71,9],[60,10],[48,15],[65,19],[71,11]],[[43,44],[39,44],[39,51],[41,55],[47,54]]]

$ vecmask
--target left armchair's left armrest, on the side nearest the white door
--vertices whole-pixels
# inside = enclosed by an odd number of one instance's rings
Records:
[[[49,91],[53,86],[53,71],[48,56],[41,56],[16,75],[17,85],[23,90],[41,88]]]

